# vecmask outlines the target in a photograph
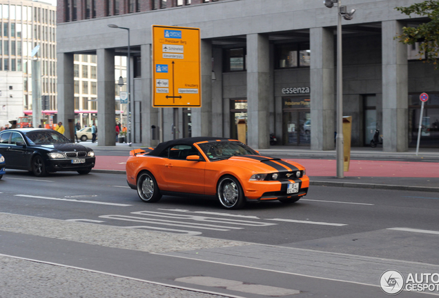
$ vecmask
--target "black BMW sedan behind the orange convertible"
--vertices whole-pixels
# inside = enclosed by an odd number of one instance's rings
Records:
[[[5,168],[29,170],[39,177],[58,171],[88,174],[96,160],[90,148],[72,143],[55,130],[43,128],[3,130],[0,154],[6,160]]]

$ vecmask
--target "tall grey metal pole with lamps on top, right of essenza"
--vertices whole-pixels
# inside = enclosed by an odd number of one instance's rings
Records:
[[[337,24],[337,178],[344,178],[343,152],[343,74],[342,74],[342,15],[340,14],[341,0],[338,0]]]

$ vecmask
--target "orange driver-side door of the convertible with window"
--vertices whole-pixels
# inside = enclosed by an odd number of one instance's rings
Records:
[[[193,146],[171,147],[168,150],[168,159],[164,163],[162,177],[169,191],[204,195],[206,161],[187,161],[188,155],[199,153]]]

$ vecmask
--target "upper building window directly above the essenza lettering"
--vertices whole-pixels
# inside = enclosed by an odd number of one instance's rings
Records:
[[[309,43],[288,43],[275,48],[276,68],[309,67],[311,51]]]

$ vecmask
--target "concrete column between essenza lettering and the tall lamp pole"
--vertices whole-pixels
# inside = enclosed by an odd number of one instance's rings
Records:
[[[335,132],[334,35],[311,28],[311,150],[333,150]]]

